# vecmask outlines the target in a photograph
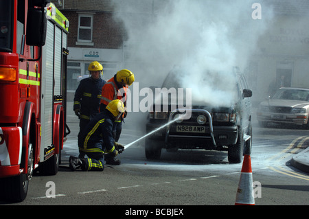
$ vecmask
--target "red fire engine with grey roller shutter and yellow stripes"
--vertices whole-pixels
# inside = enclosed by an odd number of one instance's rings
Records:
[[[66,126],[69,21],[46,0],[0,1],[0,197],[58,172]]]

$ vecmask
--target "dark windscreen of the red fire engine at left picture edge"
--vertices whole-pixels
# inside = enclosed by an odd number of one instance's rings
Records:
[[[12,51],[12,16],[12,1],[0,1],[0,51]]]

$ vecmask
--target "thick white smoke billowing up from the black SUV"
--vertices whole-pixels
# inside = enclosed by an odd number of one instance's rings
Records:
[[[135,1],[152,7],[165,5],[153,14],[151,10],[136,12],[133,3],[114,2],[128,34],[126,65],[139,87],[161,86],[176,65],[182,71],[175,80],[192,89],[193,101],[216,106],[233,102],[233,67],[246,66],[272,18],[271,8],[263,7],[263,1],[259,1],[260,20],[252,18],[254,1],[247,0]]]

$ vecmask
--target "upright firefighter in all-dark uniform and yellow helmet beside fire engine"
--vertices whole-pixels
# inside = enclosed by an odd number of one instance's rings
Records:
[[[73,111],[80,119],[80,132],[78,136],[91,118],[99,113],[102,87],[106,83],[101,78],[103,67],[99,62],[91,62],[88,71],[91,77],[80,81],[74,96]],[[80,152],[79,157],[84,157],[84,153]]]

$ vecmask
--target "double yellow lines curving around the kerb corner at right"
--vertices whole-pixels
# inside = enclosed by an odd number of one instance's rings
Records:
[[[290,150],[289,151],[290,154],[296,154],[298,150],[303,148],[304,142],[306,142],[307,140],[309,140],[308,136],[297,137],[296,139],[294,139],[289,144],[289,146],[287,148],[285,148],[284,150],[282,150],[278,154],[275,154],[273,157],[268,158],[266,161],[273,161],[273,160],[275,160],[275,161],[279,162],[282,159],[286,158],[286,153],[289,150]],[[306,181],[309,181],[309,176],[306,176],[305,174],[299,174],[297,172],[286,170],[285,168],[282,168],[282,167],[279,167],[279,166],[276,166],[276,167],[268,166],[268,168],[273,170],[273,171],[275,171],[275,172],[279,172],[280,174],[284,174],[284,175],[287,175],[287,176],[293,176],[295,178],[301,178],[301,179],[304,179]]]

